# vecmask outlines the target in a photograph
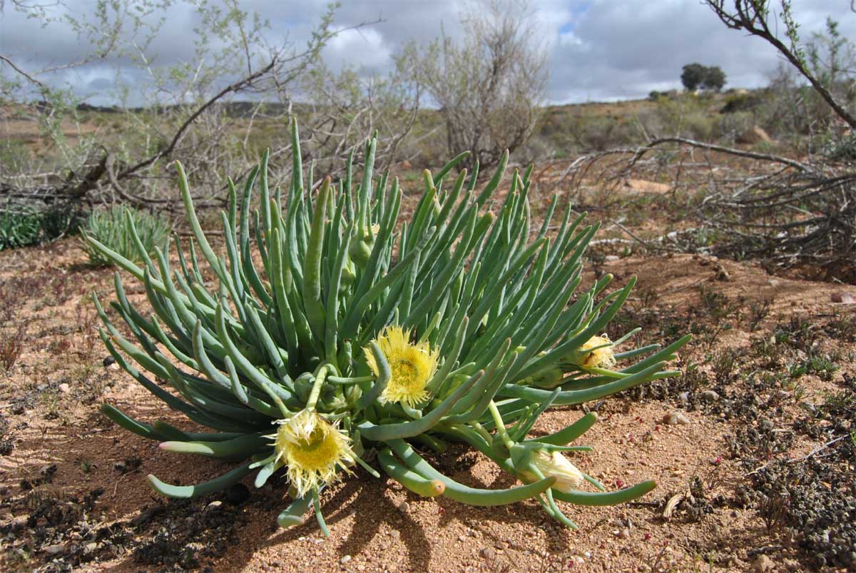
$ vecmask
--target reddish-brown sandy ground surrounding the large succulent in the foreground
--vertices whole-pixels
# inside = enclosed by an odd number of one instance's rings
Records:
[[[595,451],[575,463],[609,487],[651,478],[657,489],[634,504],[568,507],[580,525],[574,532],[535,502],[425,500],[360,471],[325,492],[324,539],[312,519],[277,528],[282,480],[192,501],[154,494],[150,473],[192,483],[222,469],[158,451],[98,413],[106,401],[187,427],[128,375],[104,367],[89,294],[110,300],[112,272],[86,266],[74,239],[0,253],[0,337],[21,341],[14,365],[0,369],[0,569],[856,568],[856,445],[847,435],[856,413],[856,305],[835,302],[856,288],[688,254],[601,254],[589,269],[589,279],[612,272],[618,285],[639,277],[613,336],[637,325],[645,331],[634,345],[696,335],[675,364],[681,379],[586,405],[601,421],[582,442]],[[145,307],[139,285],[129,291]],[[536,431],[580,415],[551,411]],[[686,423],[665,423],[669,415]],[[455,480],[509,485],[464,447],[435,461]]]

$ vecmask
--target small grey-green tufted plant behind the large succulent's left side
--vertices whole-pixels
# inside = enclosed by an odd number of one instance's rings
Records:
[[[119,254],[133,263],[144,260],[140,255],[140,242],[146,257],[154,253],[155,248],[163,247],[169,237],[169,223],[157,215],[130,207],[112,206],[108,209],[93,211],[86,219],[83,235],[92,238],[113,253]],[[89,255],[89,262],[96,266],[110,266],[115,263],[92,243],[84,240],[83,248]]]

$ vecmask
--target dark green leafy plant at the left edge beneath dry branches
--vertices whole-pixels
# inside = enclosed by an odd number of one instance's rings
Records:
[[[73,206],[4,206],[0,209],[0,251],[55,241],[74,235],[79,227],[80,212]]]

